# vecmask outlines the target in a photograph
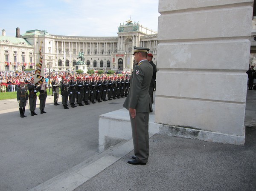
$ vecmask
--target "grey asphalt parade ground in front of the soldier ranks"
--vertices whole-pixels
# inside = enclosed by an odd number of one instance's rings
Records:
[[[124,100],[64,109],[48,96],[47,114],[37,100],[38,115],[27,105],[26,118],[15,99],[0,100],[0,191],[30,190],[97,154],[99,115],[123,108]]]

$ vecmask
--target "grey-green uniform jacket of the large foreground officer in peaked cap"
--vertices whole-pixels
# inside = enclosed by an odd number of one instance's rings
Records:
[[[136,109],[136,113],[146,113],[152,109],[148,89],[153,76],[153,67],[147,60],[142,60],[135,66],[131,75],[130,92],[123,106]]]

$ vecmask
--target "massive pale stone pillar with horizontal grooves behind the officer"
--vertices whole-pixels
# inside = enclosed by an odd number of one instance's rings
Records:
[[[244,144],[253,0],[159,0],[159,12],[155,122]]]

